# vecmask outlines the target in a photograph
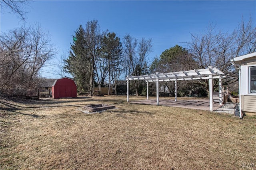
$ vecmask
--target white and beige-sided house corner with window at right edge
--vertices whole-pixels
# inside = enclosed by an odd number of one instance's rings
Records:
[[[256,52],[231,59],[239,71],[239,108],[242,112],[256,113]]]

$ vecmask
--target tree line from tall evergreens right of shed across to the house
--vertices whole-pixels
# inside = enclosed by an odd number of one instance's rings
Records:
[[[87,22],[85,29],[80,25],[74,37],[76,41],[65,60],[65,69],[76,80],[79,91],[89,91],[90,95],[95,85],[110,88],[111,84],[117,95],[121,75],[204,69],[210,65],[227,75],[222,85],[230,85],[238,81],[237,70],[232,67],[230,59],[256,51],[256,31],[251,18],[248,22],[242,18],[238,28],[231,33],[209,25],[201,34],[191,34],[191,42],[185,43],[187,48],[179,45],[170,47],[155,57],[150,65],[147,57],[153,51],[151,39],[138,40],[126,34],[121,42],[114,32],[101,32],[97,20]],[[161,84],[163,90],[168,89],[174,94],[174,82]],[[218,84],[218,80],[214,79],[213,89],[218,89]],[[151,87],[154,91],[154,84]],[[145,82],[133,81],[131,88],[133,94],[143,95]],[[178,84],[178,90],[191,89],[209,92],[208,81],[183,81]]]

